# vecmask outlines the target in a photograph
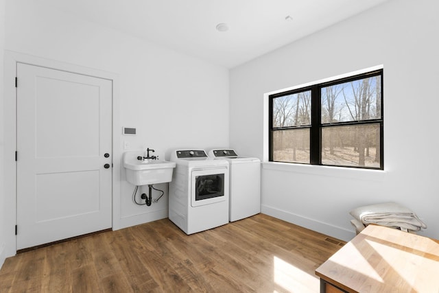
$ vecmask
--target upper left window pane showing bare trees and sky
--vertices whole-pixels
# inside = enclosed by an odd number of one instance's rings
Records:
[[[273,98],[273,127],[311,124],[311,91]]]

